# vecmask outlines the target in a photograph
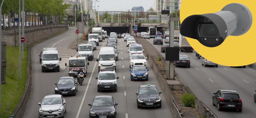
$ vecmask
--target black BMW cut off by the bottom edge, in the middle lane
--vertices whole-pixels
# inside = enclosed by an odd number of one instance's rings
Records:
[[[112,96],[95,96],[89,106],[89,118],[116,118],[117,103]]]

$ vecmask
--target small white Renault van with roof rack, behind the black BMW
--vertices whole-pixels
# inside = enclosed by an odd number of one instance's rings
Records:
[[[107,67],[100,70],[97,82],[98,92],[102,90],[114,90],[117,91],[117,77],[114,67]]]

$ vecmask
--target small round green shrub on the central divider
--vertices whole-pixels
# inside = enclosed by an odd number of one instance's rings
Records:
[[[194,94],[185,93],[185,94],[183,94],[181,96],[181,101],[187,107],[195,106],[195,95]]]

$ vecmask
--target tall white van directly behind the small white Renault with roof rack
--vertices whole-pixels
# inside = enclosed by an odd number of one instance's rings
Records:
[[[97,59],[96,61],[99,62],[98,71],[100,71],[101,68],[107,67],[114,67],[116,71],[117,59],[115,58],[114,47],[101,47],[99,59]]]

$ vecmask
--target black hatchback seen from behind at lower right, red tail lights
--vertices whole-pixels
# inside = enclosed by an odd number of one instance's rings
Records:
[[[223,109],[235,109],[242,112],[242,99],[232,90],[219,90],[213,93],[212,105],[217,105],[219,111]]]

